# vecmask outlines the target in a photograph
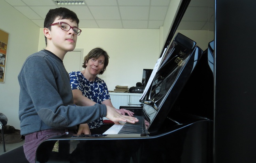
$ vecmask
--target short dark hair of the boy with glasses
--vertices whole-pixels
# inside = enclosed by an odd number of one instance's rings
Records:
[[[64,7],[60,7],[60,8],[56,8],[56,9],[50,9],[49,12],[47,13],[47,15],[45,16],[43,27],[48,28],[49,30],[51,30],[50,24],[53,24],[53,21],[57,17],[59,17],[59,19],[70,19],[72,21],[75,21],[75,22],[77,22],[77,27],[78,27],[79,19],[77,18],[76,13],[71,11],[70,9],[67,9],[67,8],[64,8]],[[45,43],[47,45],[47,38],[46,37],[45,37]]]

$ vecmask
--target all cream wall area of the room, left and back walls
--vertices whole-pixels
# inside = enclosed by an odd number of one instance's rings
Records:
[[[179,1],[172,0],[171,6],[175,8]],[[17,76],[28,55],[45,48],[45,39],[42,29],[4,0],[0,0],[0,15],[0,29],[9,33],[5,82],[0,83],[0,112],[8,117],[8,125],[19,129]],[[161,29],[82,29],[76,48],[84,49],[84,56],[95,47],[108,52],[109,66],[100,78],[109,90],[116,85],[135,86],[141,82],[143,68],[154,68],[171,22],[169,16]]]

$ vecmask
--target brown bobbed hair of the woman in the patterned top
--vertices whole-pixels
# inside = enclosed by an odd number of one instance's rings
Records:
[[[107,52],[105,50],[103,50],[102,48],[94,48],[92,49],[87,56],[84,57],[83,59],[83,68],[86,68],[86,63],[88,62],[89,59],[95,58],[98,59],[101,55],[103,55],[105,57],[105,62],[104,62],[104,68],[102,71],[100,71],[100,75],[102,75],[104,73],[104,71],[107,68],[108,62],[109,62],[109,55],[107,54]]]

